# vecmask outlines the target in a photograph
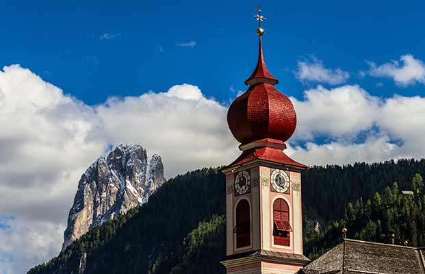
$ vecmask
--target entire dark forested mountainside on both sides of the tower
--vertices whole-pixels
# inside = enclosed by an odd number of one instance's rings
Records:
[[[408,220],[400,216],[409,211],[415,212],[405,215],[409,219],[415,216],[415,223],[409,227],[421,229],[424,210],[418,205],[425,201],[420,198],[423,187],[415,190],[414,198],[400,193],[391,198],[385,195],[388,191],[413,190],[416,173],[425,174],[425,160],[316,166],[305,171],[305,254],[317,256],[332,247],[341,238],[343,223],[349,228],[349,236],[387,240],[385,218],[393,216],[400,223]],[[394,181],[398,182],[397,189],[386,188]],[[192,171],[170,179],[144,206],[92,229],[57,258],[29,273],[224,273],[218,262],[224,256],[224,184],[224,175],[218,169]],[[363,201],[376,200],[376,192],[382,192],[381,198],[390,202],[381,201],[379,210],[369,214],[372,207]],[[387,210],[392,214],[385,215]],[[322,227],[319,232],[309,227],[316,220]],[[377,220],[381,220],[380,231]],[[388,224],[394,226],[394,221]],[[422,238],[409,235],[409,227],[394,229],[398,229],[400,239],[410,237],[414,243],[416,238],[419,243]]]

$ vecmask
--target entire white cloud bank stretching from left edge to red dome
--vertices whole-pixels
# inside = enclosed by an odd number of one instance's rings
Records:
[[[28,69],[4,67],[0,214],[16,221],[9,220],[0,233],[0,262],[7,259],[2,266],[23,273],[60,251],[79,177],[110,145],[135,142],[151,155],[159,153],[166,177],[230,162],[237,144],[226,112],[188,84],[140,97],[112,97],[93,107]]]

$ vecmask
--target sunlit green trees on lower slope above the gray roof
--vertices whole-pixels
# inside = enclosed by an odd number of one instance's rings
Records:
[[[316,258],[327,249],[335,246],[342,237],[342,228],[348,228],[347,238],[371,242],[425,246],[425,188],[422,176],[417,173],[409,189],[402,192],[394,182],[372,199],[359,198],[348,203],[344,216],[339,221],[331,221],[319,231],[309,231],[305,237],[305,249],[310,258]],[[391,237],[391,234],[394,237]]]

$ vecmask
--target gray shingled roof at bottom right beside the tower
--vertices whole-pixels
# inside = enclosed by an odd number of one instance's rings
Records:
[[[344,239],[303,274],[425,274],[425,249]]]

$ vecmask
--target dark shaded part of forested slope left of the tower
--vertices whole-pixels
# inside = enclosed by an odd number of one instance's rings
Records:
[[[165,182],[142,207],[95,227],[57,258],[29,273],[159,273],[165,259],[184,246],[183,239],[201,221],[224,214],[224,189],[224,175],[218,169],[178,175]],[[218,227],[222,229],[223,225]],[[216,258],[222,254],[220,247],[214,249]],[[214,267],[221,266],[216,262]],[[166,269],[161,273],[169,272]]]

